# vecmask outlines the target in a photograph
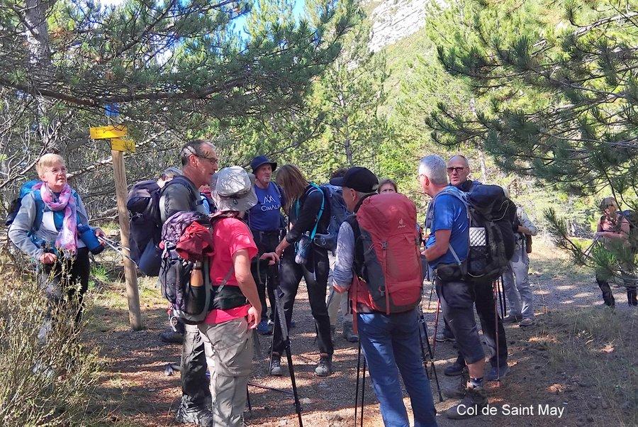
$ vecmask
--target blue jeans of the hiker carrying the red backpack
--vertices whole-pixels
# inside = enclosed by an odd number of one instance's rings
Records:
[[[410,396],[415,427],[436,426],[430,380],[423,368],[416,310],[390,315],[360,313],[357,316],[359,339],[385,426],[410,426],[398,372],[401,372]]]

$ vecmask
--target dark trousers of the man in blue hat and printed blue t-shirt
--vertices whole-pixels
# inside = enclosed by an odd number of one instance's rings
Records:
[[[257,245],[259,255],[274,252],[279,245],[279,230],[276,231],[252,231],[254,243]],[[257,293],[259,301],[262,302],[262,320],[274,319],[274,291],[279,286],[279,265],[269,265],[266,269],[259,269],[259,262],[253,262],[250,268],[254,283],[257,284]],[[268,302],[270,304],[270,316],[268,316],[268,306],[266,305],[266,293],[268,293]]]

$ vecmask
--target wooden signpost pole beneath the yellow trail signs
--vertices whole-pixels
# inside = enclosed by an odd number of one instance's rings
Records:
[[[116,183],[116,198],[118,199],[118,220],[120,222],[121,245],[128,252],[128,210],[126,209],[126,171],[124,169],[124,155],[121,151],[111,150],[113,156],[113,176]],[[128,299],[128,321],[134,331],[142,328],[142,314],[140,312],[140,293],[138,291],[138,272],[135,264],[127,257],[124,258],[124,278],[126,281],[126,297]]]

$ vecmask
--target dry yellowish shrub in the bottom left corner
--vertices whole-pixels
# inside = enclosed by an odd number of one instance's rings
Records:
[[[99,372],[96,348],[84,345],[70,310],[56,311],[47,343],[38,344],[46,301],[32,275],[4,263],[0,280],[0,424],[87,425]]]

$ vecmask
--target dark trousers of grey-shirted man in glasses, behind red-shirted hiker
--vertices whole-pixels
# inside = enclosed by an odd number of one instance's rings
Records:
[[[206,377],[206,354],[199,328],[196,325],[184,325],[184,329],[184,344],[181,346],[181,404],[186,409],[201,409],[211,399]]]

